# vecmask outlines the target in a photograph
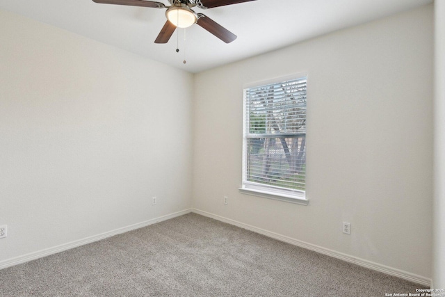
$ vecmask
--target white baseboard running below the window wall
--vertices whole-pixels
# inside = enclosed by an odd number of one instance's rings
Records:
[[[396,268],[392,268],[389,266],[385,266],[382,264],[378,264],[375,262],[371,262],[365,259],[360,259],[357,257],[353,257],[350,255],[346,255],[343,254],[342,252],[337,252],[335,250],[330,250],[328,248],[323,248],[321,246],[316,246],[312,243],[307,243],[305,241],[300,241],[298,239],[293,239],[289,236],[284,236],[282,234],[277,234],[275,232],[270,232],[268,230],[264,230],[258,227],[254,227],[252,225],[248,225],[245,223],[241,223],[238,222],[236,220],[232,220],[230,218],[225,218],[223,216],[218,216],[216,214],[211,214],[207,211],[202,211],[200,209],[192,209],[192,212],[194,212],[195,214],[200,214],[202,216],[207,216],[209,218],[214,218],[216,220],[220,220],[224,223],[228,223],[230,225],[235,225],[237,227],[241,227],[243,229],[246,230],[250,230],[252,232],[256,232],[259,234],[263,234],[265,236],[271,237],[273,239],[277,239],[279,241],[284,241],[286,243],[291,243],[294,246],[299,246],[300,248],[306,248],[307,250],[313,250],[314,252],[319,252],[323,255],[327,255],[330,257],[334,257],[337,259],[341,259],[343,261],[349,262],[349,263],[353,263],[353,264],[357,264],[359,266],[363,266],[369,269],[372,269],[374,271],[380,271],[382,273],[386,273],[387,275],[393,275],[396,276],[397,278],[402,278],[403,280],[408,280],[410,282],[415,282],[416,284],[423,284],[424,286],[428,286],[430,287],[432,285],[432,280],[430,280],[429,278],[425,278],[421,275],[416,275],[414,273],[409,273],[406,271],[401,271],[399,269]]]

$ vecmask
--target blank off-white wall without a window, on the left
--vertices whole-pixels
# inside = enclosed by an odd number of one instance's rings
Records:
[[[0,86],[0,262],[191,207],[192,74],[0,11]]]

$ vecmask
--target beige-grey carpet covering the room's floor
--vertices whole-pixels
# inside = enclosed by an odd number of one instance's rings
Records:
[[[424,288],[197,214],[0,271],[0,296],[385,296]]]

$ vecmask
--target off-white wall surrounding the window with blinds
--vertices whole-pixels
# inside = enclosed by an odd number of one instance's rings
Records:
[[[197,74],[193,206],[431,278],[432,22],[424,6]],[[309,205],[242,195],[243,85],[298,72]]]

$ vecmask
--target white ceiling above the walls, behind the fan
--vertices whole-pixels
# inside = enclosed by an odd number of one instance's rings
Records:
[[[167,0],[157,1],[170,5]],[[185,29],[185,42],[184,29],[179,29],[165,45],[154,43],[165,24],[165,9],[92,0],[0,0],[0,9],[188,72],[201,72],[427,3],[432,0],[257,0],[208,10],[195,8],[238,38],[225,44],[193,25]]]

